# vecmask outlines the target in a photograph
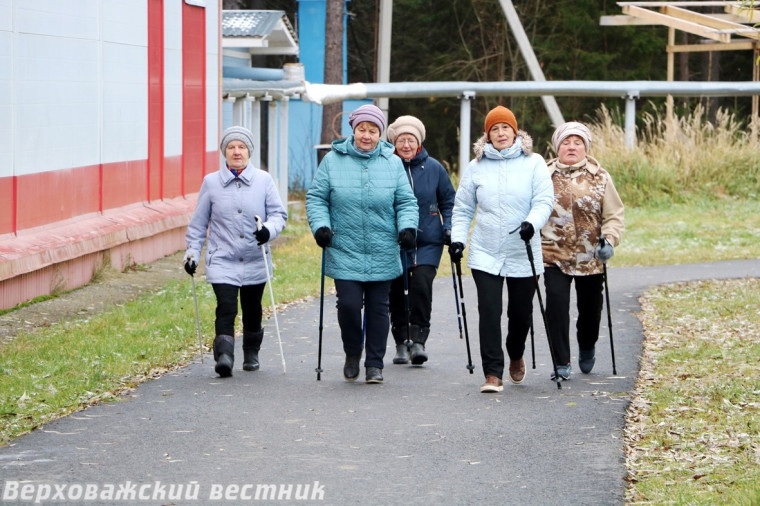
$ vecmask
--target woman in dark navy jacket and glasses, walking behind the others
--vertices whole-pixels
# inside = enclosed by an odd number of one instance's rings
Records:
[[[391,283],[391,333],[396,341],[394,364],[413,365],[427,362],[425,342],[430,334],[433,304],[433,280],[441,262],[443,245],[451,244],[451,210],[454,186],[446,169],[428,156],[422,146],[425,125],[414,116],[399,116],[388,126],[388,140],[404,164],[419,208],[417,247],[403,251],[408,274],[409,315],[404,301],[403,274]],[[407,318],[409,321],[407,321]],[[407,339],[407,323],[410,335]],[[407,348],[411,341],[411,349]]]

